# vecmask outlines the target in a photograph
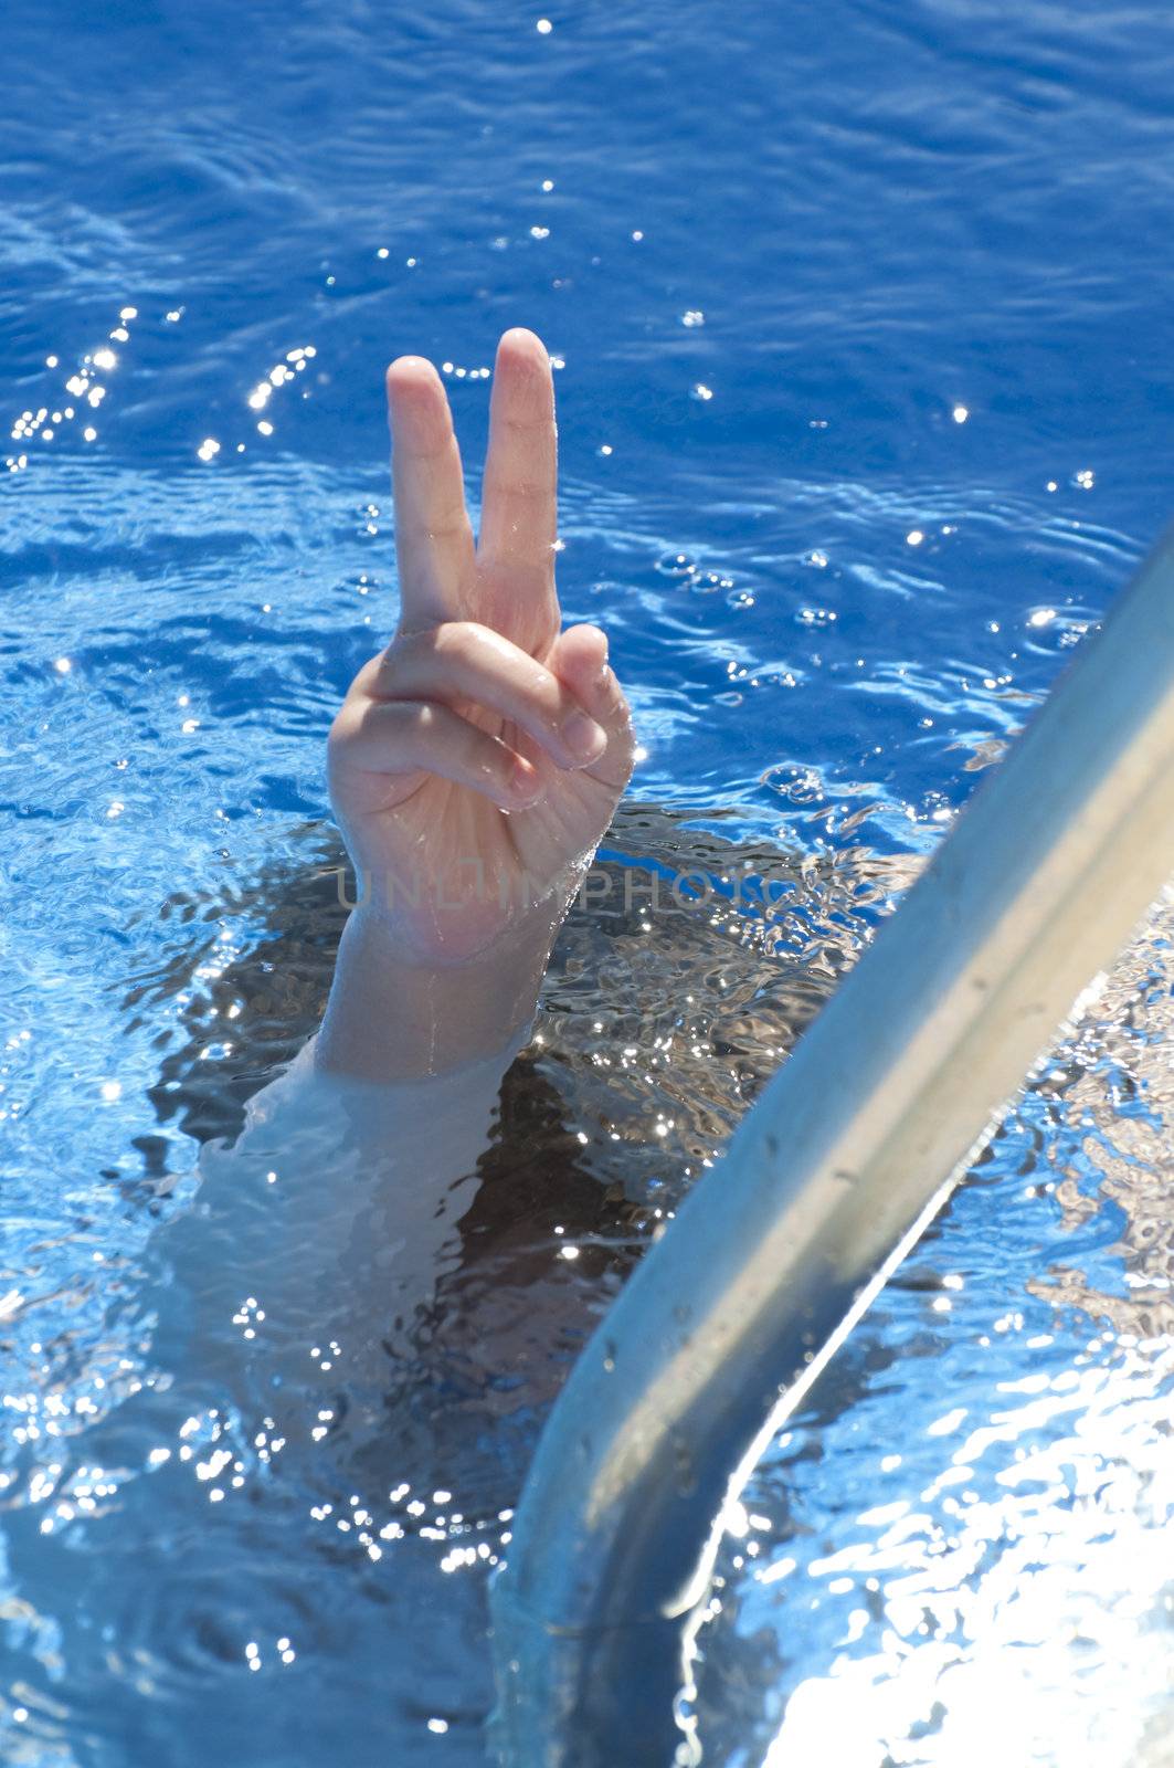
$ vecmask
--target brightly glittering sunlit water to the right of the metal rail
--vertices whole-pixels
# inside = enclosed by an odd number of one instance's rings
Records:
[[[1172,932],[1160,905],[764,1457],[702,1637],[713,1759],[1167,1759]]]

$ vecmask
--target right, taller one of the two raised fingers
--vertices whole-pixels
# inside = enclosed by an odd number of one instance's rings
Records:
[[[550,357],[543,341],[518,325],[497,347],[477,564],[509,571],[522,580],[522,594],[552,601],[557,470]]]

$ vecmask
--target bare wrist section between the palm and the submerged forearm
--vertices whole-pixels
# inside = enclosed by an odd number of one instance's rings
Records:
[[[355,909],[338,949],[315,1066],[378,1084],[504,1054],[534,1017],[560,916],[548,905],[463,964],[408,964],[394,930]]]

